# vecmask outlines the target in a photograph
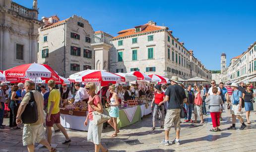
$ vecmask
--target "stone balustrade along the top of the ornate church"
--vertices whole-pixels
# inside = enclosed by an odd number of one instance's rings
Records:
[[[11,2],[11,8],[12,11],[17,12],[19,15],[28,17],[28,18],[33,18],[33,19],[38,19],[38,11],[35,9],[29,9],[26,8],[22,5],[19,5],[15,2]]]

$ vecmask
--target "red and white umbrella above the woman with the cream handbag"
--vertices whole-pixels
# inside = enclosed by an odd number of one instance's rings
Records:
[[[101,86],[109,83],[124,82],[125,78],[117,74],[101,70],[84,70],[69,76],[69,80],[75,82],[100,82]]]

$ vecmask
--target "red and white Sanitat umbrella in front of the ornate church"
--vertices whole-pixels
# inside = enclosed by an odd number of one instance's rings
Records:
[[[12,78],[12,81],[19,81],[19,78],[36,79],[41,78],[42,80],[53,79],[59,81],[60,77],[58,74],[47,64],[30,63],[22,64],[16,67],[5,70],[4,75],[7,78]],[[9,80],[7,80],[9,81]]]

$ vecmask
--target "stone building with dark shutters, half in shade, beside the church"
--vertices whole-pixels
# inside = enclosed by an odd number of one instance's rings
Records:
[[[50,65],[59,75],[94,69],[91,47],[92,26],[82,17],[73,15],[60,21],[57,15],[42,17],[39,29],[38,63]]]

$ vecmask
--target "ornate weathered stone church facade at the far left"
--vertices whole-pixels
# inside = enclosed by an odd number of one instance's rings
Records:
[[[32,6],[32,3],[31,3]],[[37,2],[27,8],[11,0],[0,0],[0,69],[37,62]]]

